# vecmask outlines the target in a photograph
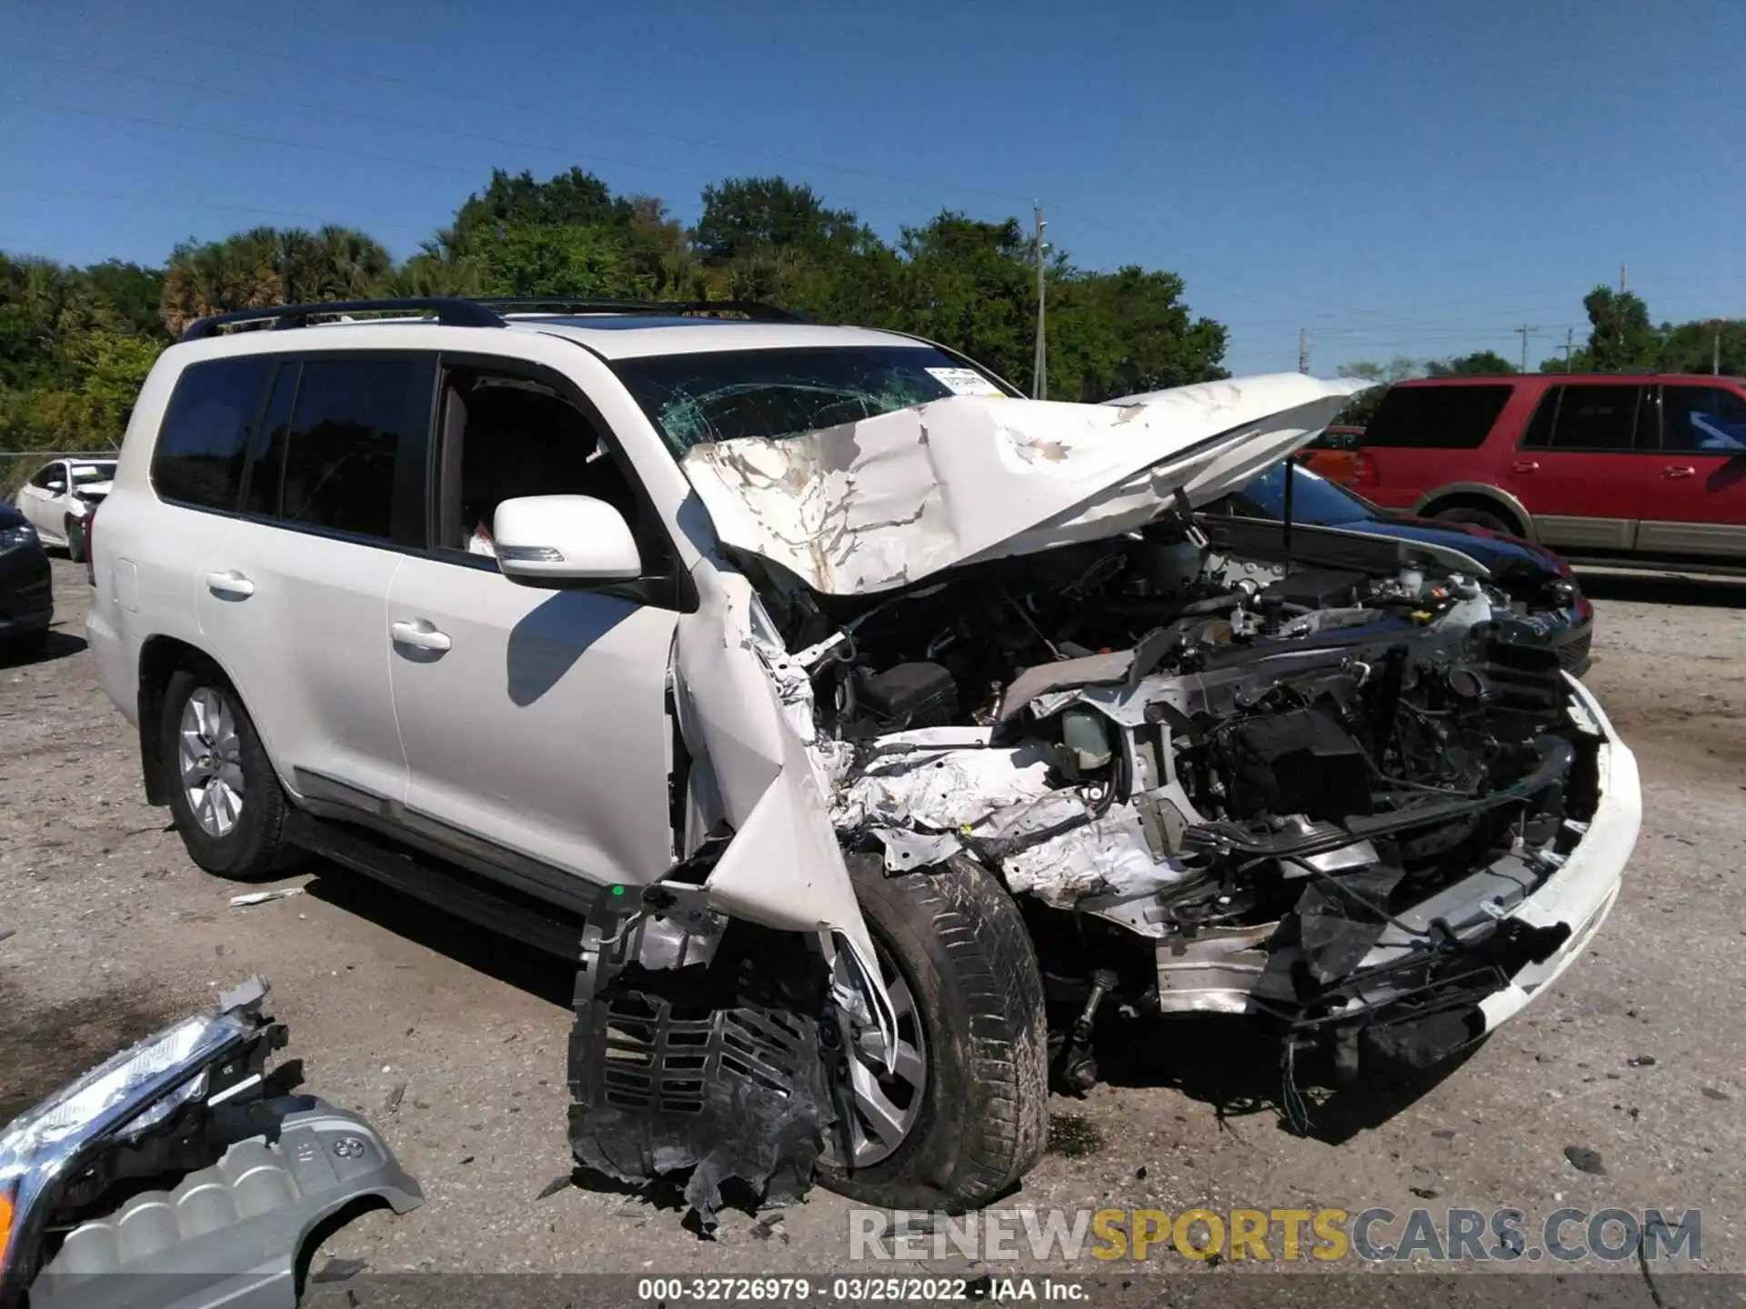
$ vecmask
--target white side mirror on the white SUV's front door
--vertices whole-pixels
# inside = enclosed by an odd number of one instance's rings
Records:
[[[643,557],[625,517],[592,496],[524,496],[491,518],[498,569],[524,586],[632,581]]]

